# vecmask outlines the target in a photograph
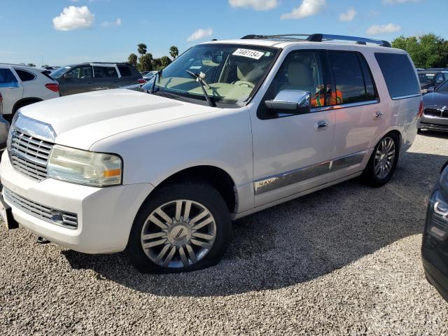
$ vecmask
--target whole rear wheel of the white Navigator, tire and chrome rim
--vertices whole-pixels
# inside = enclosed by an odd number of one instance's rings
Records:
[[[392,178],[398,162],[398,137],[388,134],[375,146],[361,179],[372,187],[381,187]]]

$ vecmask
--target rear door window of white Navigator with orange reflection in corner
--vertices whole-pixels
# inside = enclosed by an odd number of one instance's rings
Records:
[[[370,91],[370,95],[374,96],[372,78],[369,77],[365,81],[358,53],[330,51],[328,54],[336,84],[336,92],[332,94],[331,99],[332,105],[372,100],[367,94],[367,91]]]

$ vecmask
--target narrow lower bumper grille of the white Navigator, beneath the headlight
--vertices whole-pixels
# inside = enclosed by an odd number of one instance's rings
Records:
[[[15,207],[18,207],[27,214],[43,221],[63,226],[64,228],[78,228],[78,215],[76,214],[52,209],[50,207],[46,207],[45,205],[38,204],[16,193],[13,193],[7,188],[3,188],[3,197],[5,197],[8,202],[15,205]]]

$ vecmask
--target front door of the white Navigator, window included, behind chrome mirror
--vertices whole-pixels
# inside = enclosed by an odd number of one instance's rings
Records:
[[[325,183],[335,135],[335,113],[321,111],[330,100],[324,57],[318,50],[290,52],[257,111],[251,111],[255,207]],[[311,113],[288,114],[268,109],[265,100],[274,99],[281,90],[310,92]]]

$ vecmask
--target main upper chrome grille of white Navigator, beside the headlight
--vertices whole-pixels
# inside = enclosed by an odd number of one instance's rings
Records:
[[[8,148],[11,164],[30,179],[42,181],[47,177],[47,161],[52,147],[48,141],[13,130]]]

